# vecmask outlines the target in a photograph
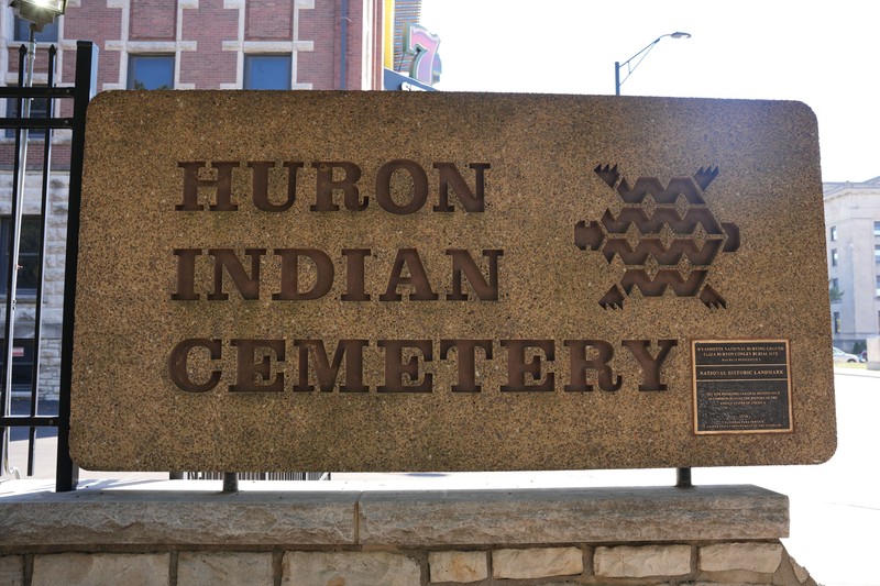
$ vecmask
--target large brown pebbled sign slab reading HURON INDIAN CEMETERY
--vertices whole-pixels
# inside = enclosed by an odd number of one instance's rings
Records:
[[[86,157],[86,468],[834,453],[802,103],[108,92]]]

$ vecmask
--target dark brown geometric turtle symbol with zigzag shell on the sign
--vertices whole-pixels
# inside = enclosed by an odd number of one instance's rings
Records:
[[[666,187],[656,177],[639,177],[629,187],[617,165],[600,164],[594,172],[624,206],[616,218],[606,209],[600,221],[578,222],[574,244],[582,251],[601,251],[608,264],[617,255],[626,267],[598,305],[623,309],[634,288],[644,297],[660,297],[671,289],[676,297],[698,297],[711,309],[727,309],[727,301],[706,283],[718,252],[739,248],[737,225],[718,223],[703,199],[718,167],[673,177]]]

